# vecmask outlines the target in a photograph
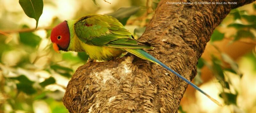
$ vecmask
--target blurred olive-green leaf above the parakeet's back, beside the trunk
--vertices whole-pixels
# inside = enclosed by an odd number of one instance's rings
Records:
[[[120,8],[116,12],[108,13],[106,15],[112,16],[116,19],[118,19],[123,25],[126,24],[127,20],[135,14],[137,11],[140,10],[140,7],[138,6],[132,6],[128,8]]]

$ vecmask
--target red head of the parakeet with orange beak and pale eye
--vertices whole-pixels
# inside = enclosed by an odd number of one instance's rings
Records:
[[[51,41],[53,49],[60,53],[59,50],[67,51],[70,42],[70,33],[67,21],[60,23],[52,29]]]

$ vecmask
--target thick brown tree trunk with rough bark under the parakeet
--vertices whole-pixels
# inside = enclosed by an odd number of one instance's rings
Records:
[[[189,1],[194,2],[183,0]],[[192,80],[214,28],[231,9],[254,0],[229,1],[237,4],[171,5],[166,2],[181,1],[162,0],[140,40],[155,47],[148,53]],[[79,67],[63,102],[69,112],[177,112],[187,86],[166,69],[128,54]]]

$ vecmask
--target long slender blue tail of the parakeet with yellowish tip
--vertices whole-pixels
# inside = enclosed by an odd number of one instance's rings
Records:
[[[222,106],[220,104],[220,102],[218,102],[217,100],[215,100],[214,98],[212,98],[210,95],[208,95],[207,93],[205,93],[202,89],[198,88],[195,84],[193,84],[191,81],[187,80],[186,78],[184,78],[183,76],[181,76],[180,74],[178,74],[177,72],[173,71],[170,67],[167,67],[164,63],[162,63],[161,61],[157,60],[155,57],[151,56],[150,54],[148,54],[147,52],[145,52],[142,49],[124,49],[129,53],[132,53],[142,59],[145,60],[149,60],[152,61],[156,64],[159,64],[161,66],[163,66],[164,68],[168,69],[169,71],[171,71],[172,73],[174,73],[175,75],[177,75],[178,77],[180,77],[182,80],[186,81],[189,85],[191,85],[192,87],[194,87],[196,90],[200,91],[201,93],[203,93],[205,96],[207,96],[209,99],[211,99],[213,102],[215,102],[216,104],[218,104],[219,106]]]

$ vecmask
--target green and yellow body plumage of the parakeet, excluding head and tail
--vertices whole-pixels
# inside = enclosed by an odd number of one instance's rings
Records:
[[[112,60],[124,53],[124,49],[153,48],[145,42],[133,39],[132,33],[110,16],[91,14],[76,21],[68,20],[68,26],[70,34],[74,34],[71,36],[73,43],[68,50],[83,48],[91,59]]]

